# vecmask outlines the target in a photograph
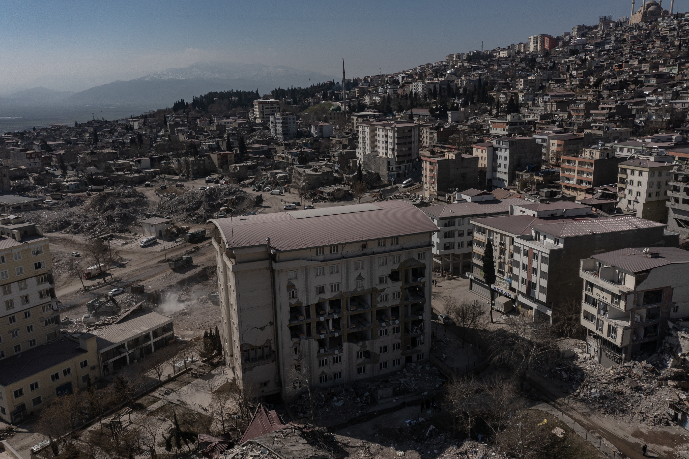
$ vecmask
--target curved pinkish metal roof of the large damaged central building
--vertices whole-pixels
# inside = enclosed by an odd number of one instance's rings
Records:
[[[435,232],[426,215],[404,201],[382,201],[210,220],[228,247],[265,245],[296,250]]]

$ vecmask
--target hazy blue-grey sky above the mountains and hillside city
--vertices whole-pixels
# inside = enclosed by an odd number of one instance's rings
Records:
[[[637,0],[637,8],[643,0]],[[670,0],[665,1],[666,8]],[[0,92],[85,90],[196,61],[288,65],[347,76],[630,14],[631,1],[0,0]],[[686,11],[689,0],[675,0]]]

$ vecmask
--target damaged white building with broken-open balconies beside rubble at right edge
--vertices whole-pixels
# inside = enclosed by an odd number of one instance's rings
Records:
[[[626,248],[581,261],[586,351],[610,367],[655,354],[668,318],[689,314],[689,252]]]

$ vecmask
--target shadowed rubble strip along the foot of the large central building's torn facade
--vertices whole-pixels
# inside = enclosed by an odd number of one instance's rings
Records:
[[[435,391],[443,383],[440,371],[430,365],[409,364],[384,379],[361,381],[353,385],[311,389],[313,416],[322,416],[331,411],[339,414],[356,414],[365,407],[378,402],[394,400],[409,394],[423,394]],[[389,400],[388,400],[389,399]],[[309,393],[305,391],[290,409],[299,418],[311,417]]]

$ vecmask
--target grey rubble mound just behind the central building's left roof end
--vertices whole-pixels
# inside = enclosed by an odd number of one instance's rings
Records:
[[[207,190],[187,191],[183,194],[161,194],[156,205],[158,215],[171,216],[179,223],[205,223],[229,204],[234,214],[249,212],[254,200],[235,185],[223,185]]]

